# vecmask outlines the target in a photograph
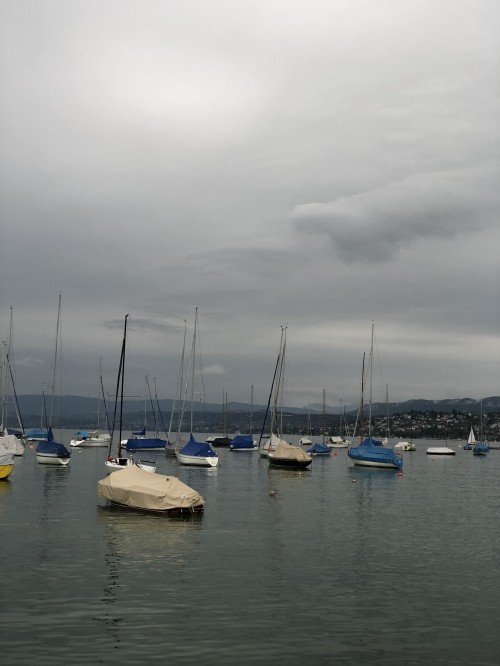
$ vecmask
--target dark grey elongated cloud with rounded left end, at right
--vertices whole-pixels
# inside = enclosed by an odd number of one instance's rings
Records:
[[[499,164],[415,174],[328,203],[296,206],[298,230],[328,238],[347,263],[392,261],[420,239],[448,239],[498,224]]]

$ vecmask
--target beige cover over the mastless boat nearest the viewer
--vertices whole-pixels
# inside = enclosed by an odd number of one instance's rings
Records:
[[[137,465],[128,465],[99,481],[97,494],[117,504],[149,511],[190,509],[205,503],[196,490],[177,477],[145,472]]]

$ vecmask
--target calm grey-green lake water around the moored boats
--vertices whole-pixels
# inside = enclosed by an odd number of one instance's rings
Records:
[[[416,444],[402,476],[143,454],[204,496],[183,520],[106,506],[106,449],[27,449],[0,484],[2,664],[497,666],[500,451]]]

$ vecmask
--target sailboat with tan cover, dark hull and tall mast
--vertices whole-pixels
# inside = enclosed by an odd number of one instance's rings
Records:
[[[277,420],[277,403],[281,397],[283,403],[283,384],[285,378],[285,355],[286,355],[286,326],[281,328],[280,351],[278,354],[278,372],[275,373],[275,390],[273,410],[271,416],[271,437],[267,450],[267,460],[272,467],[286,467],[288,469],[306,469],[312,462],[312,457],[299,446],[293,446],[282,437],[283,423]],[[281,410],[281,414],[283,410]],[[277,431],[278,435],[274,432]]]

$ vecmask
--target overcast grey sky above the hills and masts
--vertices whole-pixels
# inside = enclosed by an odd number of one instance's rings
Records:
[[[0,323],[38,393],[500,394],[498,0],[0,0]],[[134,387],[135,382],[135,387]],[[385,391],[385,388],[383,389]],[[383,399],[382,395],[374,398]]]

